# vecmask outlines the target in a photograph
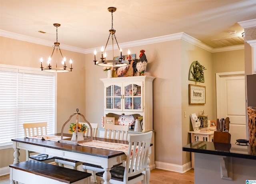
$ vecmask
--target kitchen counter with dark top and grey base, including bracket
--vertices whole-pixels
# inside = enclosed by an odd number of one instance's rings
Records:
[[[182,150],[194,152],[195,184],[256,183],[255,147],[195,141]]]

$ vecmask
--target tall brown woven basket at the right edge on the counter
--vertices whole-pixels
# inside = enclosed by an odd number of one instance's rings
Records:
[[[248,129],[249,129],[249,143],[251,148],[256,147],[256,108],[248,107]],[[256,150],[252,149],[252,153],[256,154]]]

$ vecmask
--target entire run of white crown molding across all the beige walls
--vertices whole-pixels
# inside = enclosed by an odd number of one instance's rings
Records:
[[[246,22],[246,21],[244,21],[244,22]],[[43,40],[43,39],[40,39],[40,38],[34,38],[34,37],[31,37],[31,36],[26,36],[26,35],[22,35],[22,34],[13,33],[13,32],[8,32],[8,31],[5,31],[5,30],[0,30],[0,36],[13,38],[13,39],[16,39],[16,40],[22,40],[22,41],[25,41],[25,42],[31,42],[31,43],[34,43],[34,44],[40,44],[40,45],[44,45],[44,46],[51,46],[52,45],[52,42],[50,42],[48,40]],[[200,47],[204,50],[207,50],[209,52],[212,52],[212,53],[244,49],[244,45],[228,46],[228,47],[221,47],[221,48],[212,48],[212,47],[204,44],[200,40],[197,40],[196,38],[194,38],[192,36],[189,36],[188,34],[186,34],[184,32],[180,32],[180,33],[176,33],[176,34],[169,34],[169,35],[165,35],[165,36],[158,36],[158,37],[148,38],[148,39],[144,39],[144,40],[136,40],[136,41],[132,41],[132,42],[125,42],[125,43],[119,44],[119,46],[121,48],[129,48],[129,47],[134,47],[134,46],[142,46],[142,45],[148,45],[148,44],[154,44],[154,43],[160,43],[160,42],[167,42],[167,41],[179,40],[179,39],[185,40],[186,42],[189,42],[189,43],[191,43],[195,46],[198,46],[198,47]],[[82,53],[82,54],[90,54],[90,53],[93,53],[95,49],[96,50],[101,49],[101,47],[83,49],[83,48],[78,48],[78,47],[69,46],[69,45],[65,45],[65,44],[62,44],[61,48],[64,49],[64,50],[70,50],[70,51],[79,52],[79,53]],[[114,49],[118,49],[116,44],[114,45]],[[106,50],[112,50],[112,46],[107,46]]]

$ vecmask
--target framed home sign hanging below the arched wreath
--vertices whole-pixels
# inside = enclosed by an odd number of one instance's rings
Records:
[[[188,104],[205,104],[205,86],[188,84]]]

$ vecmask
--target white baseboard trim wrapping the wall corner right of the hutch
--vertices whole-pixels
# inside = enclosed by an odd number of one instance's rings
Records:
[[[176,165],[176,164],[169,164],[165,162],[157,162],[157,161],[155,161],[155,164],[157,169],[180,172],[180,173],[187,172],[188,170],[191,169],[191,162],[188,162],[182,166]]]

